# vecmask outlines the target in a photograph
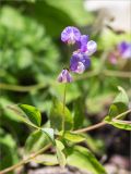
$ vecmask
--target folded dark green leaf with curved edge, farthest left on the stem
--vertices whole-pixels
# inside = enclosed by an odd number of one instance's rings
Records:
[[[41,115],[38,109],[27,104],[19,104],[21,110],[26,114],[27,119],[35,125],[40,126]]]

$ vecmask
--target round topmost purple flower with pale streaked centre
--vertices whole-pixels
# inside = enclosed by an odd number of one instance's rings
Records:
[[[75,44],[80,40],[81,33],[76,27],[68,26],[61,33],[61,40],[67,44]]]

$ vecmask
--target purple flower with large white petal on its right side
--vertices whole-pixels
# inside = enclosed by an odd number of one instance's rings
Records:
[[[80,38],[80,51],[86,53],[87,55],[92,55],[96,49],[97,44],[93,40],[88,41],[88,36],[82,35]]]

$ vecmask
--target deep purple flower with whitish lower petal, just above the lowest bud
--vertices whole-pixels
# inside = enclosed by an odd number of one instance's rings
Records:
[[[70,61],[70,70],[82,74],[91,65],[91,60],[85,53],[73,53]]]

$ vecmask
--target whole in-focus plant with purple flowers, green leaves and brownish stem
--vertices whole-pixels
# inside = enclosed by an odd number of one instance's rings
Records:
[[[88,40],[88,36],[81,35],[75,27],[67,27],[61,33],[61,40],[68,45],[75,45],[78,50],[72,53],[69,69],[62,70],[58,76],[59,83],[66,83],[63,102],[53,98],[50,109],[49,120],[45,125],[41,125],[41,114],[38,109],[28,104],[10,105],[9,109],[17,114],[20,120],[33,128],[26,141],[26,149],[29,149],[35,141],[40,137],[43,148],[38,151],[33,149],[32,153],[24,158],[21,162],[0,172],[8,173],[16,167],[34,161],[43,164],[66,164],[84,169],[92,174],[106,174],[107,171],[94,154],[85,147],[82,141],[86,141],[86,132],[106,126],[107,124],[117,128],[131,130],[131,123],[123,121],[123,117],[131,112],[129,110],[128,96],[121,87],[118,87],[119,94],[109,107],[107,116],[93,126],[75,128],[81,122],[79,116],[67,108],[66,95],[67,83],[73,80],[72,73],[82,74],[91,65],[91,55],[96,51],[97,45],[93,40]],[[76,117],[78,116],[78,117]],[[35,129],[35,130],[34,130]],[[79,145],[76,145],[79,144]],[[53,150],[52,150],[53,149]],[[44,153],[46,150],[48,153]],[[44,154],[43,154],[44,153]],[[48,160],[49,159],[49,160]]]

